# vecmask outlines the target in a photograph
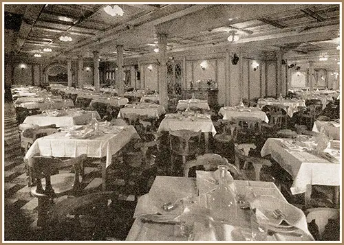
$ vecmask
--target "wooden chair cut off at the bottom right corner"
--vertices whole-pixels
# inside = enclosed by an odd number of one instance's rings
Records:
[[[314,220],[316,226],[318,226],[319,240],[323,240],[324,238],[323,234],[326,228],[325,226],[327,225],[330,219],[338,220],[338,223],[339,223],[339,214],[340,214],[339,209],[315,208],[315,209],[307,209],[306,213],[308,213],[307,222],[310,223],[312,222],[312,220]],[[339,240],[339,236],[338,236],[338,240]]]

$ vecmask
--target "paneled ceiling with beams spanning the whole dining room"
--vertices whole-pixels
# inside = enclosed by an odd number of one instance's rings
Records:
[[[168,51],[202,47],[283,49],[300,58],[338,56],[338,4],[118,4],[122,16],[110,16],[103,4],[5,4],[6,22],[18,24],[12,54],[65,59],[83,55],[125,58],[154,54],[157,33],[168,36]],[[8,26],[10,26],[8,24]],[[239,40],[230,43],[231,33]],[[59,40],[70,36],[71,42]],[[50,47],[52,52],[44,52]],[[339,56],[337,57],[337,59]],[[39,58],[37,58],[39,59]]]

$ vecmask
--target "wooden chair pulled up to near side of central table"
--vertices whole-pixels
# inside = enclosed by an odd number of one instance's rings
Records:
[[[183,165],[186,163],[186,156],[191,156],[197,153],[200,149],[202,131],[193,132],[190,130],[169,130],[169,141],[171,153],[182,156]],[[171,172],[175,171],[175,164],[173,163],[173,156],[171,154]]]

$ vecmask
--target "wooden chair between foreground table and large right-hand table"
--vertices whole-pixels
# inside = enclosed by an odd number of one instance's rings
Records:
[[[240,167],[240,162],[244,161],[244,167]],[[261,168],[266,165],[266,166],[271,166],[272,163],[267,160],[267,159],[261,159],[259,157],[255,156],[248,156],[245,154],[244,150],[241,150],[237,144],[235,144],[235,165],[237,169],[241,172],[241,174],[244,174],[247,176],[245,173],[247,164],[251,163],[254,170],[255,170],[255,180],[256,181],[266,181],[266,179],[261,179]],[[248,171],[246,171],[248,172]],[[266,176],[264,176],[266,177]],[[247,177],[248,178],[248,177]],[[275,180],[272,178],[272,176],[268,176],[269,180],[268,181],[273,181]]]

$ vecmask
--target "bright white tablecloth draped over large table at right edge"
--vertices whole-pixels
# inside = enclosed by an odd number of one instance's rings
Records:
[[[261,148],[261,156],[271,154],[292,176],[290,190],[293,195],[305,192],[307,185],[341,185],[339,163],[331,163],[310,152],[287,150],[281,142],[288,140],[269,138]]]

